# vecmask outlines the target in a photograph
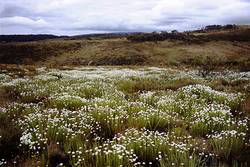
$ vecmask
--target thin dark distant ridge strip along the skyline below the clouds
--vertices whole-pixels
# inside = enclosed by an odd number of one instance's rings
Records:
[[[161,31],[161,32],[114,32],[114,33],[94,33],[94,34],[83,34],[83,35],[74,35],[74,36],[57,36],[52,34],[28,34],[28,35],[0,35],[0,42],[32,42],[32,41],[41,41],[41,40],[48,40],[48,39],[64,39],[64,40],[81,40],[81,39],[114,39],[114,38],[128,38],[133,41],[137,41],[136,39],[139,38],[139,41],[152,41],[147,40],[149,37],[158,37],[160,36],[161,40],[166,39],[188,39],[190,38],[194,39],[194,36],[190,36],[190,34],[206,34],[209,33],[216,33],[216,34],[210,34],[209,39],[212,40],[237,40],[237,41],[249,41],[249,25],[234,25],[234,24],[228,24],[228,25],[208,25],[206,27],[203,27],[201,29],[192,30],[192,31],[184,31],[184,32],[178,32],[176,30],[173,30],[171,32],[169,31]],[[217,34],[224,33],[224,34]],[[197,34],[198,33],[198,34]],[[166,37],[162,37],[166,35]],[[226,36],[226,37],[225,37]],[[141,39],[142,38],[142,39]],[[195,37],[195,40],[198,37]],[[198,40],[200,40],[201,37],[199,37]],[[153,39],[154,41],[155,39]],[[202,39],[207,41],[208,38]]]

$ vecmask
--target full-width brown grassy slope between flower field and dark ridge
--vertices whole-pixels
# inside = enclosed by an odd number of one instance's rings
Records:
[[[219,67],[250,70],[250,42],[130,42],[126,38],[45,40],[0,44],[0,63],[36,66],[147,65],[200,66],[204,57]]]

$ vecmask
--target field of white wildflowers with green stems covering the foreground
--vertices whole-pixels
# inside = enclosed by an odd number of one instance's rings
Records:
[[[0,73],[0,166],[249,166],[250,72]]]

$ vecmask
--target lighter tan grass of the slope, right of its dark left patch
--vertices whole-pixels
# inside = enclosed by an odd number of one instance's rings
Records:
[[[72,41],[71,41],[72,42]],[[77,41],[79,43],[79,41]],[[80,41],[80,49],[52,56],[36,64],[47,66],[149,65],[199,66],[204,57],[216,57],[223,67],[247,67],[250,42],[207,42],[186,44],[177,41],[132,43],[125,39]],[[247,69],[246,69],[247,70]]]

